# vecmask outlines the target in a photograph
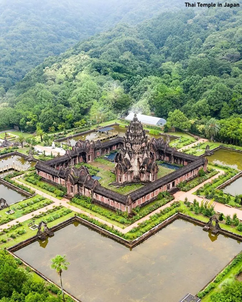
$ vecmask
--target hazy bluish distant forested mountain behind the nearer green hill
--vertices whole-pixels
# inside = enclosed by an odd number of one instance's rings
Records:
[[[3,0],[0,87],[8,90],[31,68],[117,22],[137,24],[178,0]],[[2,89],[3,93],[3,89]]]

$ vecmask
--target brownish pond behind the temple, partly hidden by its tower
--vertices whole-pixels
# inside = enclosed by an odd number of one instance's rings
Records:
[[[126,134],[126,131],[127,131],[127,128],[121,128],[120,126],[112,126],[114,128],[114,132],[118,132],[118,136],[119,137],[124,137],[125,134]],[[112,130],[109,131],[110,134],[112,133]],[[164,140],[166,140],[166,136],[162,136],[162,135],[152,135],[152,134],[149,134],[149,133],[146,133],[146,135],[148,137],[155,137],[155,138],[159,138],[159,137],[163,137]],[[115,137],[114,137],[115,138]],[[93,132],[90,132],[90,133],[87,133],[85,134],[84,136],[82,135],[78,135],[76,137],[72,137],[70,138],[70,143],[71,143],[71,146],[75,146],[76,142],[79,141],[79,139],[81,140],[86,140],[86,139],[89,139],[89,140],[97,140],[98,139],[98,133],[96,131],[93,131]],[[174,138],[170,137],[170,140],[174,140]],[[67,140],[66,139],[63,139],[61,142],[65,143]],[[102,142],[104,142],[105,140],[103,140]],[[59,142],[60,143],[60,142]]]

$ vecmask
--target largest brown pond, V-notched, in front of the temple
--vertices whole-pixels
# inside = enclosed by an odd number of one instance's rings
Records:
[[[75,222],[47,245],[36,241],[15,254],[58,284],[50,263],[65,254],[63,286],[82,302],[177,302],[197,294],[241,249],[234,239],[178,219],[132,250]]]

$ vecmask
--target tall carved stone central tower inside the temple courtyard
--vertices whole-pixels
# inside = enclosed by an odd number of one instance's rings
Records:
[[[157,179],[158,166],[150,146],[150,140],[135,114],[115,157],[116,183],[153,182]]]

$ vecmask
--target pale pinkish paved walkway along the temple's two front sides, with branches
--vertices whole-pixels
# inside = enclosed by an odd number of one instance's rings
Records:
[[[216,169],[216,170],[219,171],[219,173],[218,173],[217,175],[212,176],[210,179],[208,179],[208,180],[206,180],[205,182],[201,183],[200,185],[194,187],[193,189],[191,189],[191,190],[188,191],[188,192],[179,191],[179,192],[175,193],[175,194],[174,194],[174,197],[175,197],[174,200],[168,202],[167,204],[163,205],[163,206],[160,207],[159,209],[157,209],[157,210],[153,211],[152,213],[146,215],[145,217],[141,218],[139,221],[134,222],[132,225],[127,226],[125,229],[122,229],[121,227],[118,227],[118,226],[115,226],[115,225],[114,225],[115,229],[125,234],[125,233],[129,232],[133,227],[138,226],[138,224],[141,223],[142,221],[145,221],[145,220],[149,219],[149,216],[154,215],[155,213],[159,213],[160,210],[163,210],[163,209],[165,209],[166,207],[169,207],[174,201],[179,201],[179,200],[184,201],[186,197],[188,198],[188,200],[189,200],[190,202],[193,202],[193,200],[196,199],[196,200],[199,202],[199,204],[201,204],[201,202],[202,202],[202,200],[204,200],[204,198],[199,197],[199,196],[196,196],[196,195],[194,195],[194,194],[192,194],[192,193],[196,192],[196,190],[197,190],[198,188],[202,187],[205,183],[211,182],[211,180],[213,180],[214,178],[217,178],[218,176],[220,176],[220,175],[222,175],[222,174],[225,173],[225,172],[222,171],[222,170],[219,170],[219,169]],[[20,181],[18,180],[18,178],[20,178],[20,177],[21,177],[21,175],[20,175],[20,176],[16,176],[16,177],[14,177],[14,180],[15,180],[16,182],[20,183],[20,184],[23,184],[22,182],[20,182]],[[33,189],[33,187],[31,187],[31,186],[29,186],[29,185],[27,185],[27,184],[24,184],[24,185],[25,185],[26,187],[29,187],[29,188]],[[107,224],[107,225],[110,226],[110,227],[113,226],[113,224],[110,223],[110,222],[107,222],[107,221],[105,221],[105,220],[103,220],[103,219],[101,219],[101,218],[98,218],[97,216],[95,216],[95,215],[93,215],[93,214],[89,214],[89,213],[87,213],[87,212],[85,212],[85,211],[83,211],[83,210],[81,210],[81,209],[79,209],[79,208],[77,208],[77,207],[75,207],[75,206],[73,206],[73,205],[70,205],[70,204],[68,203],[69,200],[66,199],[66,198],[63,198],[63,199],[60,200],[60,199],[57,199],[57,198],[55,198],[55,197],[53,197],[53,196],[48,195],[47,193],[43,193],[42,191],[40,191],[40,190],[38,190],[38,189],[34,189],[34,190],[35,190],[35,192],[36,192],[37,194],[39,194],[39,195],[41,195],[41,196],[43,196],[43,197],[45,197],[45,198],[47,198],[47,199],[52,200],[52,201],[53,201],[53,204],[48,205],[47,207],[44,207],[44,208],[39,209],[39,210],[37,210],[37,211],[31,212],[31,213],[29,213],[29,214],[26,214],[26,215],[24,215],[24,216],[22,216],[22,217],[19,217],[19,218],[13,220],[13,221],[10,221],[10,222],[8,222],[8,223],[6,223],[6,224],[0,226],[0,228],[2,228],[2,229],[6,228],[6,229],[7,229],[7,228],[9,228],[9,227],[15,225],[15,224],[17,223],[17,221],[18,221],[18,222],[24,222],[24,221],[26,221],[26,220],[31,219],[31,218],[32,218],[32,214],[38,215],[38,214],[40,214],[40,212],[46,212],[46,211],[47,211],[48,209],[50,209],[53,205],[58,206],[58,205],[60,205],[60,204],[61,204],[62,206],[64,206],[64,207],[66,207],[66,208],[69,208],[70,210],[72,210],[72,211],[74,211],[74,212],[76,212],[76,213],[85,214],[85,215],[87,215],[87,216],[89,216],[89,217],[91,217],[91,218],[94,218],[94,219],[100,221],[101,223]],[[228,206],[226,206],[226,205],[224,205],[224,204],[220,204],[220,203],[215,203],[215,204],[214,204],[214,210],[217,211],[217,212],[222,212],[224,215],[231,215],[231,217],[233,216],[234,213],[236,213],[237,216],[238,216],[238,218],[239,218],[240,220],[242,220],[242,210],[235,209],[235,208],[232,208],[232,207],[230,208],[230,207],[228,207]]]

